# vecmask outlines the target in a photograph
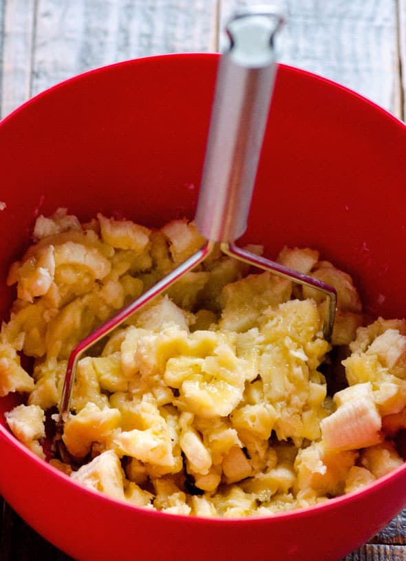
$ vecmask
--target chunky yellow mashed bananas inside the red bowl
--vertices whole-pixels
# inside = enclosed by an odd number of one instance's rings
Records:
[[[45,458],[72,348],[204,240],[187,220],[152,231],[66,209],[40,216],[33,239],[8,276],[0,396],[25,396],[6,419]],[[314,505],[401,465],[406,321],[365,325],[351,277],[317,251],[282,248],[277,261],[336,288],[331,343],[318,292],[215,249],[79,361],[65,454],[47,461],[140,507],[222,517]]]

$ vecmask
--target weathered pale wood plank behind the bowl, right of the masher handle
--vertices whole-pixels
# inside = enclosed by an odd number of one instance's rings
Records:
[[[253,3],[222,0],[220,25],[233,10]],[[401,114],[396,0],[262,3],[281,6],[287,15],[281,62],[331,78]]]

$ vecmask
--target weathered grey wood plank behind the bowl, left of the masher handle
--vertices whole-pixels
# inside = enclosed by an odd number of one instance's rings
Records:
[[[216,0],[38,0],[32,94],[94,67],[215,48]]]

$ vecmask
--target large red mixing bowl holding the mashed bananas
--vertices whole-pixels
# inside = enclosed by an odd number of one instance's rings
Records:
[[[193,217],[218,57],[165,55],[78,76],[0,123],[0,314],[34,219],[67,207],[160,226]],[[374,315],[404,317],[406,127],[348,89],[281,66],[250,211],[250,242],[318,248]],[[47,540],[100,560],[336,560],[406,504],[406,465],[360,491],[269,518],[138,509],[72,482],[17,442],[0,400],[0,492]]]

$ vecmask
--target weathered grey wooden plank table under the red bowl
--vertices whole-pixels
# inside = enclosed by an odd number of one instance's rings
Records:
[[[150,54],[221,50],[228,14],[250,3],[0,0],[0,115],[94,67]],[[406,0],[275,0],[273,5],[288,17],[279,40],[282,62],[343,83],[405,118]],[[6,504],[0,531],[0,561],[69,559]],[[406,511],[345,560],[406,561]]]

